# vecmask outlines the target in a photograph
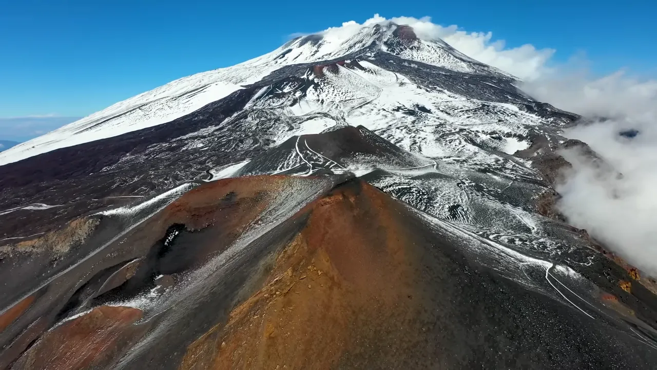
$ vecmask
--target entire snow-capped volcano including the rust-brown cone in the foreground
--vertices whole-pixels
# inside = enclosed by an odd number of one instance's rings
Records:
[[[553,209],[580,117],[518,82],[343,26],[2,151],[0,368],[652,367],[657,283]]]

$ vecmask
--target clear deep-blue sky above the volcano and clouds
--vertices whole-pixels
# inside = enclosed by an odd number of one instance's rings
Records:
[[[374,13],[431,16],[513,47],[584,51],[603,74],[652,73],[657,1],[0,0],[0,118],[84,116],[175,78],[229,66],[294,32]],[[0,135],[1,136],[1,135]]]

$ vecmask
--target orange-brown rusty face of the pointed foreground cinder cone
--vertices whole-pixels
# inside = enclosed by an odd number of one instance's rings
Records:
[[[372,366],[413,352],[421,293],[400,205],[352,182],[310,212],[265,286],[196,340],[181,369]]]

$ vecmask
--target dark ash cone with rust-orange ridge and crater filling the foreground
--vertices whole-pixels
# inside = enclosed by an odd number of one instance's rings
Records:
[[[643,368],[656,359],[632,331],[650,329],[625,305],[595,289],[582,311],[567,303],[576,293],[553,285],[578,284],[568,267],[487,244],[362,180],[330,179],[257,176],[191,190],[110,244],[69,309],[118,303],[51,329],[12,368]],[[125,248],[136,245],[150,248]],[[101,293],[102,265],[135,258],[127,280]],[[30,309],[43,305],[52,301]]]

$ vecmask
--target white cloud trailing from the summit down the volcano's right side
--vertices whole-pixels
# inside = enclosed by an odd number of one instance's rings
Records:
[[[568,64],[551,63],[553,49],[529,44],[507,48],[491,32],[440,26],[428,17],[386,19],[376,14],[363,24],[346,22],[321,34],[349,36],[362,26],[386,22],[408,24],[422,40],[440,38],[468,57],[520,78],[520,88],[535,99],[587,117],[588,124],[570,128],[564,136],[589,144],[614,171],[591,167],[577,151],[563,153],[573,168],[556,186],[562,195],[558,208],[570,223],[657,276],[657,80],[631,78],[623,71],[593,78]],[[624,130],[638,133],[627,138],[620,135]]]

